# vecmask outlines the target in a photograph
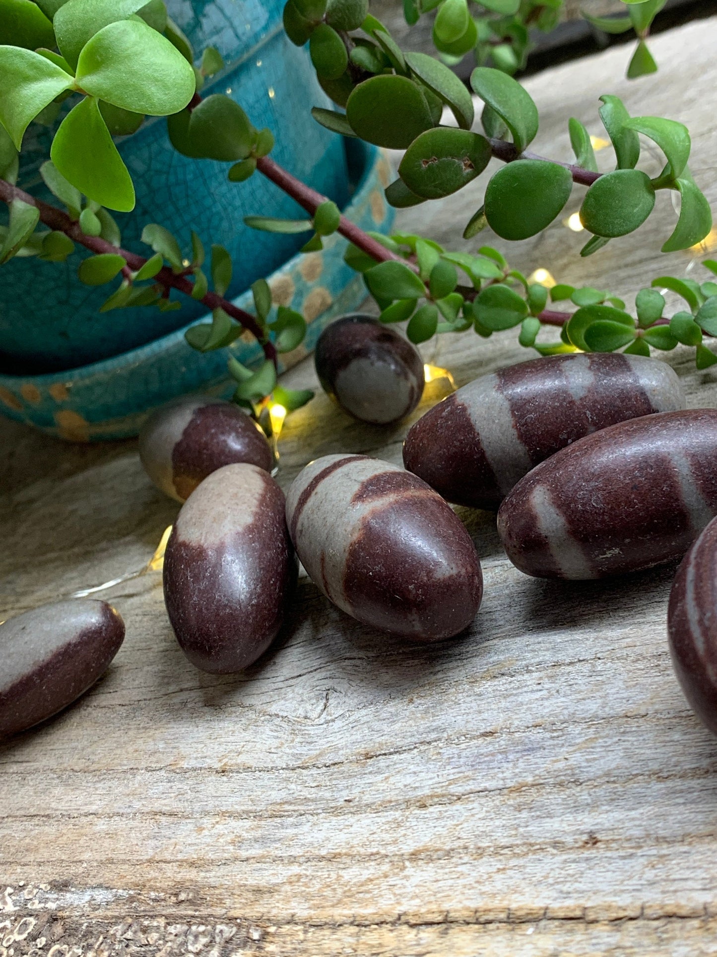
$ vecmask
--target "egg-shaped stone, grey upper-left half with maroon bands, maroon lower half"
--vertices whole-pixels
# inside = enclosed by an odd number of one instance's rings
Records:
[[[287,522],[315,584],[366,625],[423,641],[462,632],[481,603],[473,543],[424,481],[367,456],[310,462]]]

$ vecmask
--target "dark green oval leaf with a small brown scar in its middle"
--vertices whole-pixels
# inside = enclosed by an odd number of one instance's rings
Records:
[[[465,129],[439,126],[418,136],[403,155],[403,183],[424,199],[439,199],[463,189],[489,164],[485,136]]]

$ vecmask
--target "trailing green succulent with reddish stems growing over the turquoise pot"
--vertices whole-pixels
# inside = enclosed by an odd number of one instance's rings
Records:
[[[424,0],[423,11],[435,6]],[[439,5],[436,32],[444,58],[458,56],[446,54],[445,43],[442,47],[441,24],[445,11],[453,15],[459,6],[463,16],[466,0]],[[484,6],[494,11],[496,5]],[[540,9],[554,10],[546,4]],[[632,23],[633,11],[642,11],[637,24],[644,33],[659,5],[646,0],[629,9]],[[422,8],[407,2],[406,11],[410,19]],[[405,150],[398,178],[385,190],[397,208],[463,189],[496,158],[505,165],[493,173],[482,205],[469,217],[463,232],[467,240],[487,226],[507,240],[541,232],[563,211],[576,185],[587,188],[579,216],[592,234],[581,256],[597,254],[641,226],[660,190],[681,197],[664,252],[692,247],[711,229],[709,206],[687,165],[689,132],[677,120],[631,117],[617,97],[602,96],[598,114],[614,148],[615,168],[600,173],[591,137],[576,119],[568,122],[575,162],[529,151],[538,111],[505,69],[481,65],[473,71],[471,87],[484,104],[483,132],[473,130],[473,100],[461,80],[439,57],[404,53],[369,13],[368,0],[289,0],[284,24],[293,43],[308,44],[318,80],[338,107],[315,107],[315,121],[343,136]],[[175,237],[161,223],[148,223],[142,233],[147,256],[121,247],[111,211],[131,210],[134,189],[113,136],[132,135],[145,115],[167,117],[171,143],[185,156],[226,162],[237,189],[251,176],[263,175],[306,211],[305,218],[293,220],[250,216],[250,227],[306,234],[306,252],[321,249],[328,235],[348,239],[346,261],[363,275],[381,321],[407,322],[406,334],[414,343],[437,333],[472,328],[488,337],[514,327],[521,345],[542,354],[624,348],[648,355],[650,347],[672,349],[682,343],[695,348],[698,367],[717,362],[703,343],[705,335],[717,335],[717,281],[707,273],[702,282],[655,278],[628,310],[609,290],[564,283],[548,289],[531,282],[480,240],[475,252],[455,252],[420,235],[364,233],[331,200],[272,160],[272,133],[256,129],[240,104],[223,94],[202,96],[205,78],[223,69],[222,58],[212,48],[195,56],[162,0],[0,0],[0,25],[0,200],[9,208],[0,232],[0,263],[12,256],[61,261],[77,243],[94,254],[80,265],[79,281],[119,280],[102,312],[124,306],[179,308],[173,292],[201,300],[212,321],[187,331],[189,345],[200,351],[226,348],[249,330],[262,346],[264,362],[258,368],[228,359],[234,399],[257,417],[267,396],[290,412],[311,398],[309,391],[276,383],[278,354],[300,345],[306,323],[293,309],[274,309],[265,279],[252,286],[253,314],[227,300],[232,263],[227,250],[214,244],[207,268],[205,242],[211,237]],[[479,62],[485,60],[479,39],[475,49]],[[453,122],[444,121],[445,108]],[[51,206],[15,182],[28,125],[52,124],[59,116],[50,156],[40,169],[59,201]],[[641,137],[663,153],[656,176],[638,167]],[[717,262],[706,260],[704,266],[717,274]],[[665,315],[661,290],[677,293],[685,308]],[[568,300],[575,310],[553,308]],[[541,330],[551,326],[560,328],[559,339],[538,341]]]

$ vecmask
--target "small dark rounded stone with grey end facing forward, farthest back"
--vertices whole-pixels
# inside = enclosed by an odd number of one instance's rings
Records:
[[[316,375],[345,412],[387,425],[424,393],[424,360],[400,332],[359,313],[327,325],[316,343]]]

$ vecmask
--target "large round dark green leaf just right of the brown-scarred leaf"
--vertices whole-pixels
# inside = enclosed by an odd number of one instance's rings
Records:
[[[527,239],[553,222],[572,189],[573,177],[566,167],[547,160],[509,163],[493,175],[486,189],[489,226],[504,239]]]

